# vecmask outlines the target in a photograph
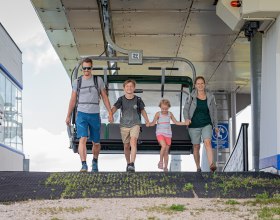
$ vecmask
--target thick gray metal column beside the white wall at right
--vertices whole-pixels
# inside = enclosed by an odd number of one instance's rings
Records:
[[[259,171],[260,159],[260,108],[261,108],[261,71],[262,71],[262,34],[257,32],[250,43],[251,58],[251,113],[253,169]]]

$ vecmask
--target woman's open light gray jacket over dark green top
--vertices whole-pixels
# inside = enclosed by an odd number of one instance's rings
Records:
[[[207,106],[209,109],[210,118],[212,121],[213,127],[218,127],[218,119],[217,119],[217,106],[215,101],[215,96],[206,90],[206,97],[207,97]],[[191,120],[196,109],[197,103],[197,90],[194,89],[191,94],[187,96],[186,103],[183,110],[183,115],[185,120]]]

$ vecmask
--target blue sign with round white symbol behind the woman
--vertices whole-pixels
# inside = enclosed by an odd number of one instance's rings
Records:
[[[212,131],[212,147],[216,148],[228,148],[228,123],[219,123],[218,124],[219,132],[216,133],[215,129]]]

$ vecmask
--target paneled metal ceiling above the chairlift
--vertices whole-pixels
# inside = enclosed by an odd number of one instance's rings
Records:
[[[31,1],[68,74],[81,56],[104,51],[97,1]],[[125,49],[141,49],[144,56],[189,59],[210,89],[233,91],[240,87],[239,92],[250,93],[249,43],[223,23],[213,2],[111,0],[115,43]],[[190,68],[179,62],[155,65],[179,67],[167,74],[192,75]],[[119,66],[119,74],[155,74],[148,71],[148,64]]]

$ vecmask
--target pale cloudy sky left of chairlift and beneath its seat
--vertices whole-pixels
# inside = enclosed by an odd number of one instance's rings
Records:
[[[24,153],[31,171],[76,171],[79,155],[68,149],[65,116],[70,79],[52,48],[29,0],[0,1],[0,22],[23,56]],[[158,171],[159,155],[138,155],[136,170]],[[182,170],[195,170],[192,156],[183,156]],[[88,156],[91,160],[91,155]],[[124,155],[101,155],[101,171],[124,171]],[[149,163],[147,163],[149,161]]]

